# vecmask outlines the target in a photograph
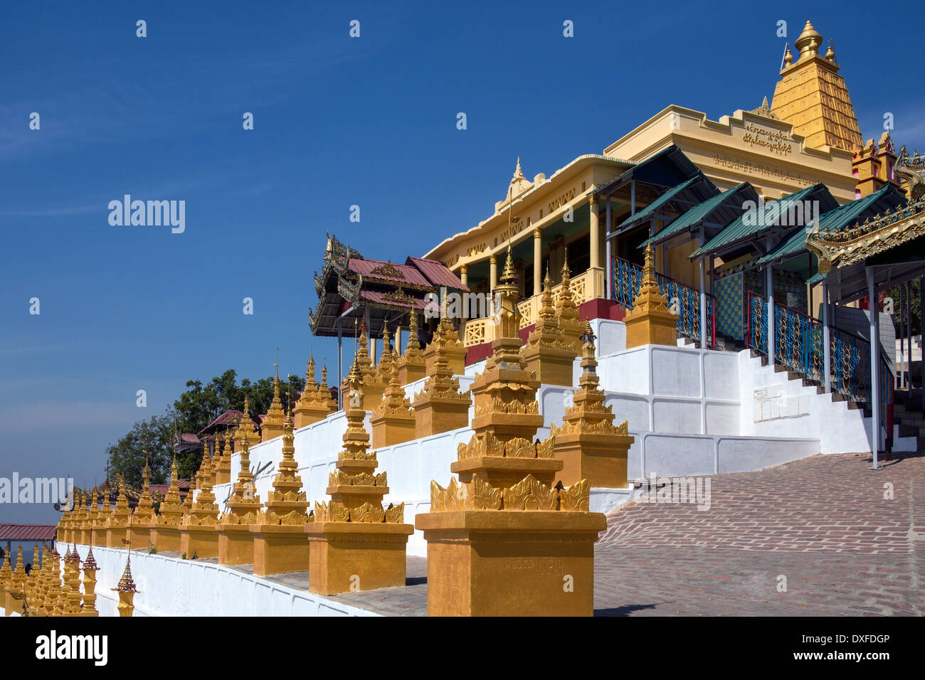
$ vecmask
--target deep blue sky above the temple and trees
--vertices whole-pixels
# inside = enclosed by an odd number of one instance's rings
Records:
[[[0,9],[0,476],[102,480],[106,444],[186,380],[264,377],[277,346],[284,374],[310,349],[333,362],[308,328],[326,230],[402,261],[487,217],[518,155],[549,176],[666,105],[758,106],[779,19],[791,43],[807,15],[835,38],[865,138],[890,111],[894,139],[925,146],[915,6],[329,5]],[[110,226],[127,193],[185,201],[185,231]]]

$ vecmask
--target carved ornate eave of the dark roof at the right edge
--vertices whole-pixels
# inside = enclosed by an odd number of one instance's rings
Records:
[[[862,262],[925,236],[925,198],[865,220],[852,229],[809,234],[807,248],[819,258],[819,270]]]

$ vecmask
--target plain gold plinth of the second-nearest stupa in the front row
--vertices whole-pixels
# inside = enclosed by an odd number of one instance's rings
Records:
[[[319,595],[405,585],[405,548],[412,525],[314,522],[308,588]]]

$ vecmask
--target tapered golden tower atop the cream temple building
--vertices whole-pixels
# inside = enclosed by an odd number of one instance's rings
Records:
[[[818,149],[828,145],[852,151],[855,145],[863,146],[864,140],[845,78],[838,73],[835,51],[830,43],[825,56],[820,56],[822,41],[807,19],[796,39],[796,49],[800,51],[797,61],[793,61],[789,49],[783,57],[771,114],[791,123],[794,134],[805,138],[806,146]]]

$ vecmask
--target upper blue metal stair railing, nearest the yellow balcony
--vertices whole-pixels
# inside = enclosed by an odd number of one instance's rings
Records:
[[[613,299],[628,309],[639,294],[643,268],[622,257],[611,256]],[[700,340],[700,292],[678,283],[673,278],[655,275],[661,294],[678,314],[678,332],[693,340]],[[675,306],[676,304],[676,306]],[[710,348],[716,347],[716,298],[707,293],[707,339]]]

